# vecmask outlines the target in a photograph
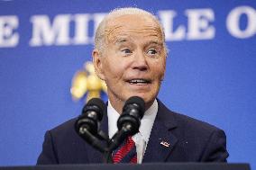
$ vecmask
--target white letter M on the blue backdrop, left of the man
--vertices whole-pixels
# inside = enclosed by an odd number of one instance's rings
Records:
[[[30,40],[30,45],[68,45],[70,18],[69,14],[59,14],[50,24],[50,19],[47,15],[32,16],[32,39]]]

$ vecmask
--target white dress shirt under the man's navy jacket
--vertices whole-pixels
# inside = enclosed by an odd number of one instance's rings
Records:
[[[153,127],[157,112],[158,112],[158,102],[157,100],[155,100],[154,103],[151,105],[151,107],[144,113],[139,132],[133,135],[133,141],[135,142],[135,145],[136,145],[138,164],[142,164],[142,159],[151,136],[151,129]],[[114,136],[114,133],[118,130],[116,122],[119,116],[120,114],[114,110],[114,107],[112,106],[110,101],[108,101],[107,117],[108,117],[108,135],[110,139]]]

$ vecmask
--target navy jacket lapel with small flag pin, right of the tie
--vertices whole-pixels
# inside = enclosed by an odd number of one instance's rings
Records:
[[[178,139],[171,130],[177,128],[177,122],[163,103],[159,104],[159,110],[151,130],[151,137],[143,157],[144,162],[165,162]]]

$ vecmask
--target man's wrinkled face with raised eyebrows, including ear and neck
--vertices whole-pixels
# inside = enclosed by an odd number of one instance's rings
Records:
[[[107,23],[102,56],[94,53],[96,72],[105,80],[117,112],[131,96],[140,96],[148,109],[160,90],[166,53],[159,25],[150,17],[123,15]]]

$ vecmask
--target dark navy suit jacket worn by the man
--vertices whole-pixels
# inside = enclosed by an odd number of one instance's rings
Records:
[[[142,163],[148,162],[226,162],[228,153],[223,130],[185,115],[171,112],[163,103],[151,130]],[[102,163],[102,154],[81,139],[74,129],[76,119],[45,134],[37,164]],[[107,116],[101,129],[108,132]],[[166,147],[161,142],[169,143]]]

